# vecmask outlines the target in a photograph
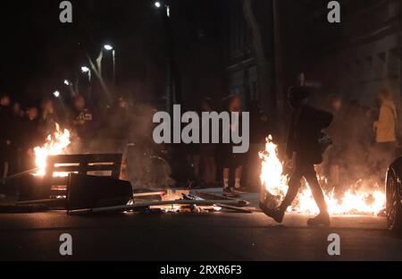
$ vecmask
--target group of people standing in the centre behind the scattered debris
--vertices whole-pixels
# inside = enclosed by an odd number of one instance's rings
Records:
[[[220,105],[217,108],[214,101],[206,97],[201,102],[199,111],[224,110],[239,113],[242,107],[241,99],[236,95],[224,98]],[[265,140],[272,132],[272,128],[267,114],[257,101],[252,101],[249,107],[250,148],[246,154],[233,153],[234,143],[188,146],[188,162],[192,166],[192,180],[197,187],[214,188],[222,185],[226,194],[259,189],[261,162],[258,153],[264,150]],[[209,125],[210,129],[211,126]]]

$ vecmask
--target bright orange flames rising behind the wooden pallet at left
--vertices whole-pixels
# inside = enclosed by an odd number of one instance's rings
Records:
[[[63,155],[65,148],[70,145],[70,131],[60,131],[59,124],[55,124],[55,131],[53,134],[48,135],[46,143],[41,148],[34,148],[35,151],[35,165],[38,167],[36,175],[43,176],[46,173],[46,159],[47,156]],[[56,173],[56,176],[65,176],[67,173]]]

